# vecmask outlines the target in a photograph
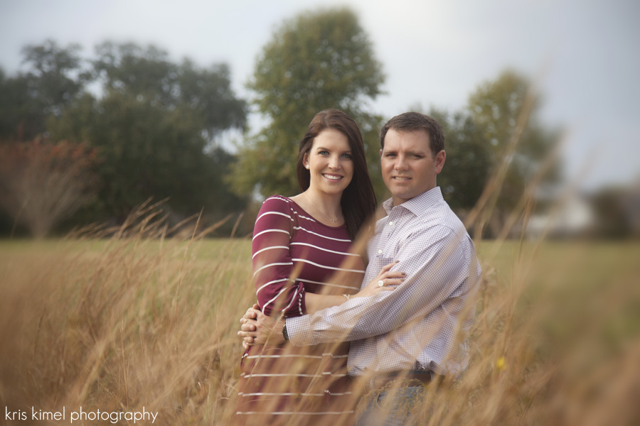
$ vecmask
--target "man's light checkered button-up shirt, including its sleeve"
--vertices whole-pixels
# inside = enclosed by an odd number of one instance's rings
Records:
[[[289,339],[295,346],[351,341],[352,376],[407,370],[457,376],[469,358],[466,336],[481,275],[473,241],[439,187],[395,207],[387,200],[383,208],[388,215],[375,224],[362,286],[393,261],[400,261],[393,270],[407,273],[405,282],[287,318]]]

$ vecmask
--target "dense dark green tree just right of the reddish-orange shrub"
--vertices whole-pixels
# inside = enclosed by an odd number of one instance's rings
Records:
[[[148,197],[171,197],[169,208],[181,216],[203,206],[207,212],[225,206],[228,212],[228,207],[242,205],[220,185],[229,155],[219,147],[204,152],[206,140],[199,124],[182,108],[166,111],[114,92],[103,99],[80,99],[50,123],[50,131],[99,150],[99,210],[121,222]]]

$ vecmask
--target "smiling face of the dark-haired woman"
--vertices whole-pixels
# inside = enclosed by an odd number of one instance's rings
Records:
[[[341,194],[353,178],[353,160],[348,138],[335,129],[320,132],[309,153],[304,155],[309,166],[309,188],[327,194]]]

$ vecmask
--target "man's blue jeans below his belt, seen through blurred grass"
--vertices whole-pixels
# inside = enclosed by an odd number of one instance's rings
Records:
[[[358,413],[356,426],[374,425],[410,425],[418,419],[412,419],[412,408],[425,400],[424,386],[407,386],[398,389],[383,389],[367,395],[366,406]],[[420,419],[420,423],[425,419]]]

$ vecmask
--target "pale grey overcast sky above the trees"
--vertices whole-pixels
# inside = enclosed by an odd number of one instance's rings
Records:
[[[228,63],[236,94],[250,99],[245,84],[273,31],[331,6],[356,11],[383,64],[372,111],[461,109],[511,67],[540,88],[543,123],[567,129],[567,180],[590,190],[640,179],[636,0],[0,0],[0,67],[23,70],[21,48],[47,38],[85,55],[104,40],[154,43],[174,60]]]

